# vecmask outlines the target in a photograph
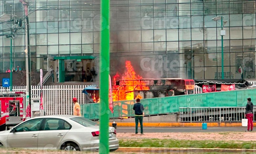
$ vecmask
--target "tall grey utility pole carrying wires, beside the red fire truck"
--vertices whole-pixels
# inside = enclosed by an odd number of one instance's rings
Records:
[[[26,95],[27,95],[27,103],[29,106],[31,106],[31,63],[30,63],[30,39],[29,39],[29,4],[28,2],[25,2],[24,0],[20,0],[20,2],[24,6],[25,10],[25,18],[26,18],[26,27],[27,27],[27,48],[25,51],[27,51],[26,56],[26,77],[27,77],[27,88],[26,88]],[[30,110],[30,109],[29,109]],[[31,115],[32,116],[32,115]]]

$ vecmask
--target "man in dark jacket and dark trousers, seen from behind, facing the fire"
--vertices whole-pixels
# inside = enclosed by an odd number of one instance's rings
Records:
[[[140,103],[140,99],[136,99],[136,103],[133,106],[133,110],[135,111],[135,134],[138,134],[138,123],[140,124],[140,134],[143,134],[143,110],[144,107]]]

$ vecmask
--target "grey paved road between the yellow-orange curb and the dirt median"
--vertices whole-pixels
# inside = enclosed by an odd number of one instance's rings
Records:
[[[140,128],[138,128],[140,129]],[[165,133],[165,132],[226,132],[245,131],[247,127],[143,127],[145,133]],[[118,127],[117,133],[134,133],[135,127]]]

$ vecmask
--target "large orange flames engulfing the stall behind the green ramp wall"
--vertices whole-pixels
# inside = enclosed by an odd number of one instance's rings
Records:
[[[134,71],[134,68],[130,61],[125,62],[126,72],[124,75],[120,77],[117,73],[113,77],[113,82],[116,84],[117,78],[125,80],[120,83],[121,86],[116,85],[113,86],[113,101],[122,101],[122,100],[133,100],[134,95],[133,91],[136,90],[149,90],[149,87],[145,86],[146,83],[144,81],[140,81],[142,79],[141,76],[137,75]],[[132,80],[132,81],[131,81]]]

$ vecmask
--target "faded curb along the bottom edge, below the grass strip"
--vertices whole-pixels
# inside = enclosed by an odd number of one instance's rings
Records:
[[[117,152],[256,152],[256,149],[219,149],[219,148],[162,148],[162,147],[119,147]]]

